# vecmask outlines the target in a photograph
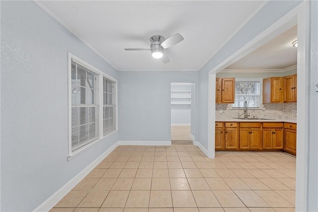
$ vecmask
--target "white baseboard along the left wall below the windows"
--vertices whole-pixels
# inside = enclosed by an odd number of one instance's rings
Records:
[[[118,141],[109,147],[104,153],[97,157],[93,162],[86,166],[78,175],[67,182],[62,188],[55,192],[51,197],[39,205],[33,212],[50,211],[65,195],[67,195],[98,163],[100,163],[110,152],[118,146]]]

